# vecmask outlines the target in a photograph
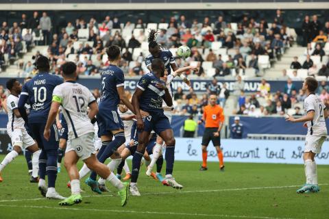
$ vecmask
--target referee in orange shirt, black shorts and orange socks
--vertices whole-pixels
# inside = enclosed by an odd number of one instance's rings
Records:
[[[202,119],[199,120],[199,124],[205,122],[206,129],[204,130],[204,136],[202,137],[202,166],[200,170],[208,170],[207,168],[207,146],[212,141],[214,144],[218,159],[219,159],[219,168],[221,171],[224,170],[224,162],[223,162],[223,153],[221,152],[221,128],[224,123],[224,113],[223,108],[216,104],[217,96],[210,95],[209,104],[204,107],[204,114]]]

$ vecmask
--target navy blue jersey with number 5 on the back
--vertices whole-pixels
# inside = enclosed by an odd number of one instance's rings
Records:
[[[110,65],[103,70],[101,72],[101,99],[99,107],[117,110],[117,105],[120,103],[117,88],[124,85],[125,76],[118,66]]]

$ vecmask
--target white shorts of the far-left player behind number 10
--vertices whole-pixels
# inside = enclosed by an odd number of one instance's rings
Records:
[[[8,130],[8,136],[12,140],[12,146],[20,146],[21,149],[26,149],[27,147],[36,144],[25,129],[14,129],[14,131],[10,129]]]

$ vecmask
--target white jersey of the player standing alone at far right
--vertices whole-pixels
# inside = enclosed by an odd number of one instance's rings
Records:
[[[305,114],[310,111],[314,111],[314,118],[308,121],[307,135],[310,136],[327,136],[327,127],[324,119],[324,103],[319,99],[316,94],[309,94],[304,100]]]

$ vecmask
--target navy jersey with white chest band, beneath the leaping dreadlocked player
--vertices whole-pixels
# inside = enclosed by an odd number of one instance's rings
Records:
[[[154,73],[147,73],[139,79],[137,88],[143,90],[139,105],[141,110],[145,112],[160,112],[163,114],[162,97],[164,97],[164,90],[157,88],[156,83],[163,83]]]

